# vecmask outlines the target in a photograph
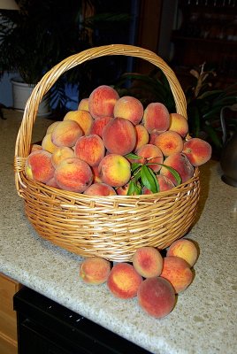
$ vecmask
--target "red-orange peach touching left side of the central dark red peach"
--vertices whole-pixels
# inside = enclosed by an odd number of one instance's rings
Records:
[[[80,136],[74,148],[76,158],[86,161],[88,165],[99,165],[105,154],[103,140],[99,135]]]

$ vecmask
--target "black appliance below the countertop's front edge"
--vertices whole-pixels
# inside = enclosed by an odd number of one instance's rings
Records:
[[[32,289],[13,297],[19,354],[149,354]]]

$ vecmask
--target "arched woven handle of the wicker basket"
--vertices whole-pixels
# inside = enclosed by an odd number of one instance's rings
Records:
[[[37,111],[39,104],[41,103],[42,96],[44,96],[51,89],[61,74],[72,69],[74,66],[80,65],[88,60],[111,55],[141,58],[149,61],[149,63],[156,65],[159,69],[161,69],[170,84],[176,105],[176,111],[187,119],[187,102],[184,92],[180,87],[180,82],[169,65],[167,65],[164,60],[158,57],[154,52],[133,45],[124,44],[104,45],[101,47],[83,50],[78,54],[65,58],[60,63],[52,67],[48,73],[45,73],[42,80],[37,83],[31,96],[27,100],[15,145],[14,169],[16,172],[16,184],[18,190],[18,180],[20,179],[19,172],[22,171],[22,165],[25,164],[25,160],[30,152],[34,121],[37,116]]]

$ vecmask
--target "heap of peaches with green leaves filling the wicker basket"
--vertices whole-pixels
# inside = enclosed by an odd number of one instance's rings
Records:
[[[89,196],[157,193],[186,182],[210,159],[210,144],[186,140],[187,133],[187,119],[164,104],[144,108],[101,85],[32,145],[25,171],[50,187]]]

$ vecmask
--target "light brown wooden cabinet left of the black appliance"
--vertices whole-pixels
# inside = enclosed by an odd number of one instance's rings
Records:
[[[17,318],[13,296],[21,285],[0,273],[0,353],[17,354]]]

